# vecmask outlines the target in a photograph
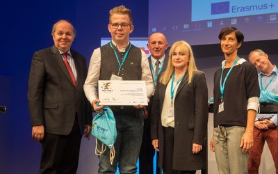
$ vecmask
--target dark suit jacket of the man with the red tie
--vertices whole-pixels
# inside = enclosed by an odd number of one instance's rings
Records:
[[[83,91],[87,64],[81,54],[72,49],[71,53],[77,73],[76,88],[55,45],[33,55],[28,82],[31,124],[44,125],[44,131],[50,134],[70,134],[76,111],[81,134],[84,125],[92,125],[92,109]]]

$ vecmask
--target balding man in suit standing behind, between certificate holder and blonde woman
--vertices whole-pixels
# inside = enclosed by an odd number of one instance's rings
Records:
[[[168,63],[168,56],[165,54],[167,47],[169,46],[167,39],[163,33],[152,33],[149,36],[149,42],[147,43],[147,47],[151,52],[151,56],[149,56],[149,67],[152,71],[152,79],[154,81],[154,85],[156,85],[156,81],[158,75],[165,71]],[[154,93],[153,93],[154,94]],[[140,174],[149,174],[154,173],[154,155],[155,150],[152,146],[151,139],[151,125],[150,118],[152,114],[152,99],[150,98],[149,106],[147,106],[147,114],[145,114],[144,119],[144,134],[142,138],[142,145],[140,149],[139,155],[139,173]],[[158,153],[156,155],[158,158]],[[156,160],[158,161],[158,160]],[[157,165],[157,163],[156,163]],[[156,167],[156,173],[160,173],[158,167]]]

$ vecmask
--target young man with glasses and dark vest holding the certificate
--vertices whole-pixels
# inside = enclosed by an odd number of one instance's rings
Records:
[[[104,105],[97,96],[99,80],[143,80],[146,81],[147,97],[151,97],[154,84],[147,56],[140,48],[129,41],[133,31],[131,10],[117,6],[110,10],[108,31],[111,42],[94,50],[90,60],[88,77],[85,80],[85,95],[95,111],[101,111]],[[110,106],[117,127],[115,141],[115,159],[111,165],[109,150],[99,156],[99,173],[136,173],[137,160],[142,142],[144,118],[142,106]],[[101,143],[98,143],[101,149]]]

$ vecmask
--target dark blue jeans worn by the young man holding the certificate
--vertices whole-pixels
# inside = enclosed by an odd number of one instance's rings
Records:
[[[122,111],[114,112],[117,125],[117,140],[114,144],[115,159],[111,165],[110,149],[107,148],[99,156],[99,174],[116,173],[117,165],[120,173],[136,173],[137,159],[140,152],[144,121],[140,110],[134,109],[132,113]],[[98,148],[101,149],[98,143]]]

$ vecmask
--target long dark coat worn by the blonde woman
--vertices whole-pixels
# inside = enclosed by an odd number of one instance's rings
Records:
[[[158,139],[159,166],[163,161],[163,126],[161,112],[167,85],[156,84],[152,103],[151,136]],[[195,171],[206,165],[206,127],[208,121],[208,89],[204,72],[194,72],[188,84],[188,72],[181,80],[174,99],[174,151],[173,169]],[[197,155],[192,153],[192,144],[203,145]]]

